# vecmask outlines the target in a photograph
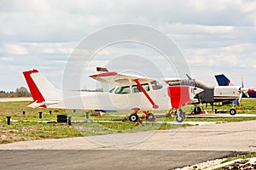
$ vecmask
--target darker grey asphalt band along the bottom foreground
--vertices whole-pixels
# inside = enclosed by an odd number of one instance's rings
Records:
[[[235,155],[231,151],[0,150],[1,169],[173,169]]]

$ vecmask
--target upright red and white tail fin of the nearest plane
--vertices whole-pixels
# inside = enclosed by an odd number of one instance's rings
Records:
[[[44,101],[61,98],[61,90],[55,88],[39,71],[24,71],[23,75],[34,102],[44,104]],[[37,106],[42,106],[37,105]]]

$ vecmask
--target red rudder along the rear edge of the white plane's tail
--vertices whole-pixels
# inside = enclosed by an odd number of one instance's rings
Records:
[[[23,71],[23,75],[26,79],[27,86],[32,94],[32,98],[34,101],[38,101],[38,103],[45,101],[43,95],[40,93],[38,90],[37,85],[35,82],[32,80],[31,74],[39,72],[37,70],[32,70],[32,71]]]

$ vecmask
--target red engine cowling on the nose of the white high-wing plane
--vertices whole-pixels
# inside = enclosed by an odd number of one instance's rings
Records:
[[[170,96],[172,108],[174,109],[179,109],[191,101],[188,86],[168,87],[168,95]]]

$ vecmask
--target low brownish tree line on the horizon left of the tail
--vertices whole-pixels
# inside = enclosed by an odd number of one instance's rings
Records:
[[[0,91],[0,98],[31,97],[31,94],[24,87],[16,88],[15,92]]]

